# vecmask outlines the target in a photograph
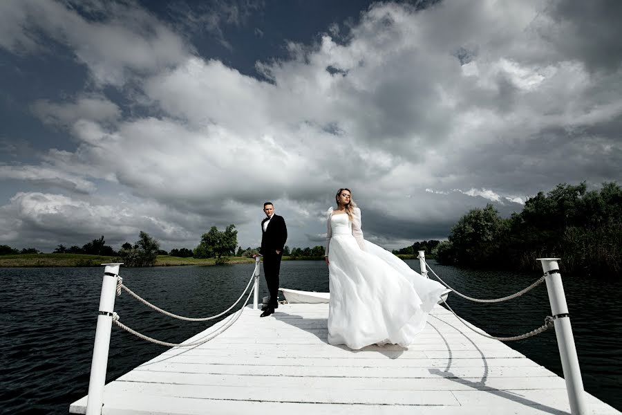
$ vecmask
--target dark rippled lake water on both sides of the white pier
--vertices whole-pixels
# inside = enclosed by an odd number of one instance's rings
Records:
[[[419,270],[418,261],[406,261]],[[473,297],[502,297],[540,275],[460,270],[435,265],[458,291]],[[238,298],[254,265],[122,268],[124,284],[173,313],[204,317],[223,311]],[[262,270],[263,273],[263,270]],[[102,268],[0,268],[0,413],[67,414],[86,395]],[[564,276],[563,276],[564,277]],[[328,291],[323,261],[285,261],[281,286]],[[263,295],[265,283],[261,282]],[[565,278],[585,389],[622,410],[622,282]],[[543,324],[551,313],[545,285],[502,304],[474,304],[450,295],[459,315],[493,335],[516,335]],[[155,313],[124,293],[115,311],[121,321],[151,337],[181,342],[213,322],[179,322]],[[511,347],[561,374],[554,331]],[[106,382],[118,378],[166,349],[113,327]]]

